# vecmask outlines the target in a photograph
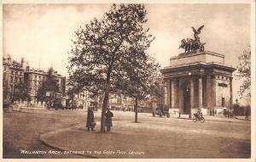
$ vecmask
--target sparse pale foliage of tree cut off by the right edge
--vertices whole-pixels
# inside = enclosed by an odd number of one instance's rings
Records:
[[[236,76],[243,81],[239,95],[240,97],[251,98],[251,50],[244,50],[238,59],[238,74]]]

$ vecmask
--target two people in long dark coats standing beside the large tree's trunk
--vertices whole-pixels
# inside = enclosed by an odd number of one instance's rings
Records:
[[[112,124],[112,118],[113,118],[113,113],[107,109],[107,112],[105,114],[105,126],[107,126],[107,131],[111,130],[111,126],[113,126]],[[87,121],[86,121],[86,128],[87,131],[94,131],[94,128],[96,126],[96,122],[94,120],[94,112],[92,108],[88,108],[88,112],[87,112]]]

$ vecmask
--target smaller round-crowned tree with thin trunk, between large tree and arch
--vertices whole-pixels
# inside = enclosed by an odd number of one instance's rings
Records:
[[[139,59],[140,57],[143,57]],[[155,63],[147,53],[137,53],[137,57],[126,58],[125,73],[128,77],[121,78],[119,89],[126,96],[135,98],[135,123],[137,123],[138,102],[148,99],[157,93],[160,87],[160,65]],[[137,62],[137,60],[141,60]]]

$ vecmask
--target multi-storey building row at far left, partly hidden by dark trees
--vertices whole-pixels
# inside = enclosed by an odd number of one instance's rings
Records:
[[[10,56],[3,57],[3,101],[9,103],[13,100],[15,85],[23,82],[26,84],[29,90],[29,96],[31,103],[37,102],[38,88],[42,86],[43,81],[46,80],[48,73],[44,70],[31,69],[22,58],[20,62],[11,59]],[[66,95],[66,77],[54,72],[56,81],[58,81],[59,96],[61,98]]]

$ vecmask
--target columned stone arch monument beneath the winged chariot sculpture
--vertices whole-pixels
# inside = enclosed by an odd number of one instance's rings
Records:
[[[161,70],[165,79],[165,107],[182,115],[223,115],[232,106],[232,72],[224,55],[209,51],[181,53]]]

